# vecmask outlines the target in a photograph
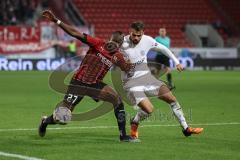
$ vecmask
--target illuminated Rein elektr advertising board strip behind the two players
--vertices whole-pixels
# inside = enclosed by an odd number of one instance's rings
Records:
[[[179,57],[180,63],[186,69],[195,69],[196,67],[206,69],[207,67],[240,67],[240,59],[202,59],[191,57]],[[65,63],[65,58],[55,59],[22,59],[22,58],[0,58],[0,71],[52,71]],[[74,62],[75,63],[75,62]],[[75,65],[75,64],[74,64]],[[76,69],[78,65],[75,65]],[[175,68],[174,63],[170,60],[171,68]]]

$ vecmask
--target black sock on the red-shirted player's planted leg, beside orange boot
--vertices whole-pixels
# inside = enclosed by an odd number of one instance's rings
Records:
[[[117,118],[118,129],[120,136],[126,135],[126,115],[124,110],[123,103],[120,103],[118,106],[114,107],[115,117]]]

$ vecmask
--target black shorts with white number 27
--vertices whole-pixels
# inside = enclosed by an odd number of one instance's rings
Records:
[[[68,86],[67,93],[64,96],[64,101],[72,107],[72,109],[83,99],[84,96],[92,97],[96,102],[98,102],[98,95],[100,91],[107,84],[103,82],[86,84],[81,81],[72,79],[70,85]]]

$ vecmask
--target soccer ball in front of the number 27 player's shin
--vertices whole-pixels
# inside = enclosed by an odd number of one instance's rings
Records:
[[[72,112],[67,107],[57,107],[53,111],[53,119],[56,123],[67,124],[72,119]]]

